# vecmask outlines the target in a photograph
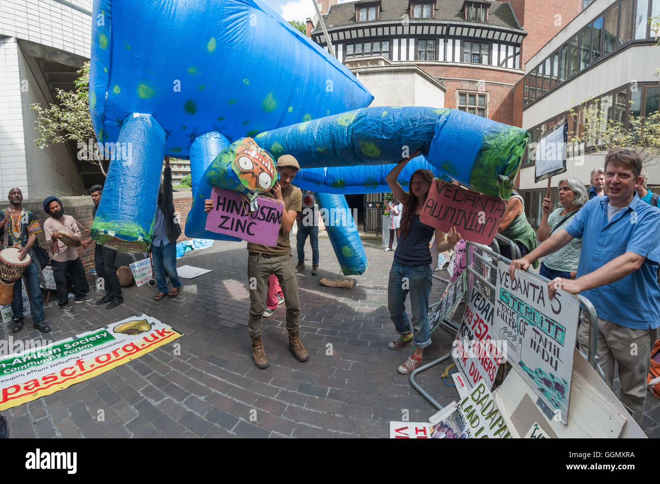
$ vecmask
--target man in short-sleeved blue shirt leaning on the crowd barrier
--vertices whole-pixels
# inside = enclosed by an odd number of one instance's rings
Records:
[[[585,203],[568,224],[539,248],[512,261],[527,269],[532,261],[582,238],[577,279],[548,282],[550,298],[561,288],[581,293],[598,312],[597,354],[608,385],[618,363],[621,402],[640,423],[646,399],[651,335],[660,325],[660,211],[643,203],[635,189],[642,183],[642,161],[628,149],[614,148],[605,157],[605,192]],[[578,342],[588,348],[591,321],[581,313]]]

